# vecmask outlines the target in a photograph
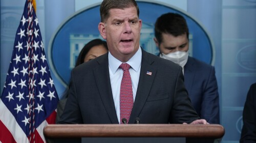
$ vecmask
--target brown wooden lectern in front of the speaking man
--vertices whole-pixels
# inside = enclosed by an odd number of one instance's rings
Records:
[[[47,142],[113,142],[117,139],[136,140],[146,139],[151,142],[154,139],[165,139],[168,142],[172,138],[185,142],[220,142],[225,130],[218,124],[210,125],[183,125],[183,124],[73,124],[73,125],[48,125],[44,128]],[[108,139],[110,139],[108,141]],[[84,141],[86,140],[86,141]],[[120,142],[120,141],[119,141]],[[123,142],[123,141],[121,141]],[[129,141],[131,142],[131,141]],[[164,142],[164,141],[156,141]]]

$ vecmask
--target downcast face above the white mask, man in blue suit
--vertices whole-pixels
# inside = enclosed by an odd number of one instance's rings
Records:
[[[187,35],[173,36],[170,34],[162,34],[162,42],[159,44],[156,38],[154,38],[156,46],[161,53],[168,54],[176,51],[188,51],[188,39]]]

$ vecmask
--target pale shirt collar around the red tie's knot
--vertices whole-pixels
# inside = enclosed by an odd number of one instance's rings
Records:
[[[132,56],[132,58],[126,63],[129,64],[136,72],[138,72],[142,59],[142,51],[139,47],[138,51]],[[119,66],[122,64],[121,61],[117,60],[110,52],[109,52],[109,66],[112,73],[115,73]]]

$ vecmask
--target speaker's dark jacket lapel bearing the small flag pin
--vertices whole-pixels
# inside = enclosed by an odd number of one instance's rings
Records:
[[[156,66],[153,66],[153,63],[154,63],[154,60],[152,60],[148,56],[148,53],[142,50],[140,78],[139,78],[135,102],[133,105],[133,109],[132,109],[132,113],[129,121],[130,124],[134,124],[136,122],[136,118],[139,117],[140,112],[146,102],[147,96],[150,93],[152,83],[157,73],[157,68]],[[147,74],[147,71],[151,72],[152,75]]]

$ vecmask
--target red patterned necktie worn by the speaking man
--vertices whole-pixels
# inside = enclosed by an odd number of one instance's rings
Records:
[[[128,123],[131,116],[133,108],[133,88],[129,72],[130,65],[122,63],[120,68],[123,70],[123,78],[120,88],[120,124],[123,124],[122,119],[125,118]]]

